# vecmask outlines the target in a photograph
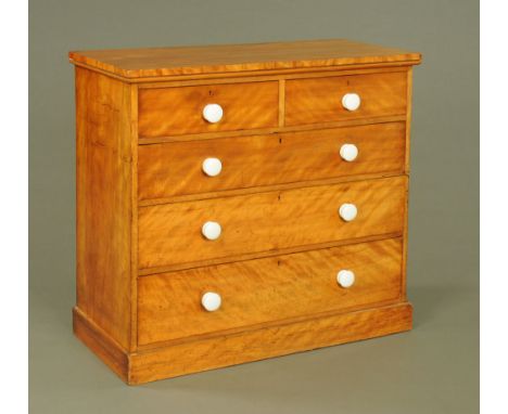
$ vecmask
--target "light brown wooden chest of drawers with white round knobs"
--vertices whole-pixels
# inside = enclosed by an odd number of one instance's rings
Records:
[[[420,54],[321,40],[69,59],[74,332],[125,381],[410,329]]]

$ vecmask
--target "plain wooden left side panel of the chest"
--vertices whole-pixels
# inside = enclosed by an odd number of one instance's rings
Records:
[[[77,307],[130,347],[130,86],[76,68]]]

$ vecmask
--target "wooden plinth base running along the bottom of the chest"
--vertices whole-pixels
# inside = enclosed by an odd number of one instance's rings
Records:
[[[75,335],[129,385],[395,334],[412,324],[412,307],[402,302],[128,353],[79,309],[73,313]]]

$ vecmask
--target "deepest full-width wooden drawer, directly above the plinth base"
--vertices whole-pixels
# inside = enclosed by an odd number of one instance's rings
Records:
[[[391,238],[140,277],[139,344],[394,301],[401,269],[402,241]],[[341,270],[353,285],[338,283]],[[215,311],[202,306],[207,292],[220,296]]]

